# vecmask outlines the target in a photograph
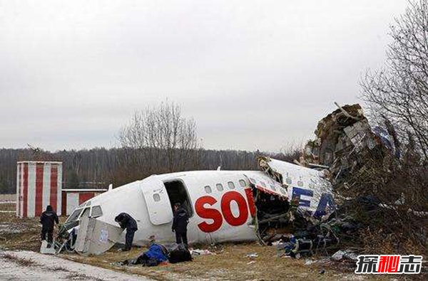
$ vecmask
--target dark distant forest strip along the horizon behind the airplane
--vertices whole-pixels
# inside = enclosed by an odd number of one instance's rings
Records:
[[[177,150],[177,149],[176,149]],[[298,152],[296,152],[298,153]],[[173,155],[174,165],[170,165]],[[170,149],[94,148],[45,152],[39,149],[0,149],[0,193],[16,192],[16,161],[62,161],[63,188],[113,187],[151,174],[173,171],[255,170],[258,152],[236,150],[193,149],[183,153]],[[176,156],[176,157],[174,157]],[[272,157],[292,161],[298,154],[271,154]]]

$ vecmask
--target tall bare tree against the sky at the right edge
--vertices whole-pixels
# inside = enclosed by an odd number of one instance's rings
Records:
[[[409,1],[390,26],[392,43],[380,70],[362,78],[362,97],[377,121],[390,120],[400,139],[414,136],[428,159],[428,0]]]

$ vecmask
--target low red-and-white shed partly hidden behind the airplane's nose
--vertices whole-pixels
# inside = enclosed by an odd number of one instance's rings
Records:
[[[62,190],[62,213],[70,216],[81,203],[106,192],[108,189],[63,189]]]

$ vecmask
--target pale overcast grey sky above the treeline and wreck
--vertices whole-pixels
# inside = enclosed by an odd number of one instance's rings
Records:
[[[357,102],[406,0],[0,0],[0,147],[111,147],[169,100],[205,148],[277,151]]]

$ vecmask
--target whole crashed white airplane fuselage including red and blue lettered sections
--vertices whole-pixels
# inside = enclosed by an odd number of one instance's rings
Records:
[[[149,176],[91,198],[73,211],[67,223],[89,217],[118,226],[114,218],[126,212],[138,223],[136,245],[146,243],[151,235],[159,242],[172,242],[173,205],[179,202],[190,216],[189,242],[217,243],[260,238],[260,212],[275,206],[285,213],[290,198],[297,198],[299,207],[312,214],[323,213],[332,205],[331,186],[321,171],[275,159],[267,162],[269,171],[183,171]],[[272,176],[275,173],[282,175],[283,182]],[[102,235],[107,239],[106,231]],[[122,233],[113,242],[124,238]]]

